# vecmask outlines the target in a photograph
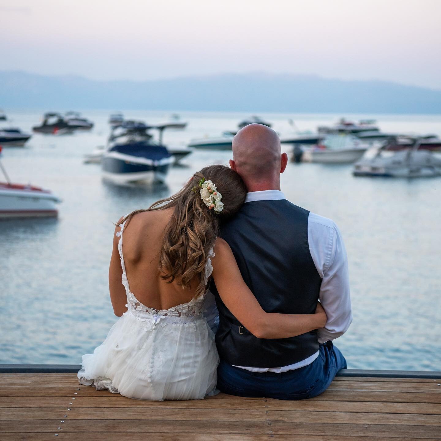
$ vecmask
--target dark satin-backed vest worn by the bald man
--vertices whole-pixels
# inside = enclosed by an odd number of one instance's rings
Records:
[[[247,202],[221,228],[243,280],[266,312],[312,314],[321,278],[308,245],[309,211],[287,200]],[[216,250],[215,250],[216,251]],[[258,339],[232,315],[214,282],[219,310],[217,350],[236,366],[281,367],[318,351],[316,331],[284,339]]]

